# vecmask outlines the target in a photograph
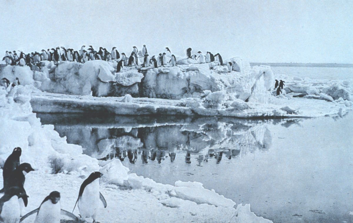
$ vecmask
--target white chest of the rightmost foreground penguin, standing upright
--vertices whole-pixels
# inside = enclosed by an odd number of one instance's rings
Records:
[[[80,215],[85,218],[95,216],[99,203],[99,179],[96,179],[85,187],[82,196],[78,199]]]

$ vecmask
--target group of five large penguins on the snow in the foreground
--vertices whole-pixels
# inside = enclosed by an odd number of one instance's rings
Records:
[[[34,223],[60,223],[61,215],[66,215],[78,222],[79,218],[77,216],[61,209],[60,192],[58,191],[53,191],[45,197],[37,209],[24,216],[21,215],[22,208],[28,205],[29,198],[24,189],[25,176],[34,171],[31,164],[20,163],[21,154],[22,149],[20,147],[14,148],[4,163],[2,171],[4,188],[0,190],[0,193],[4,193],[0,198],[0,222],[19,223],[33,214],[36,214]],[[76,204],[78,204],[79,216],[82,221],[85,218],[92,218],[93,222],[96,222],[99,205],[107,207],[106,200],[99,192],[99,179],[102,175],[100,172],[91,173],[79,189]]]

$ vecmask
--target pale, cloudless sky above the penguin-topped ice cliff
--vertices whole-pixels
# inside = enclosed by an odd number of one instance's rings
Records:
[[[353,1],[0,0],[0,52],[201,50],[223,60],[353,63]]]

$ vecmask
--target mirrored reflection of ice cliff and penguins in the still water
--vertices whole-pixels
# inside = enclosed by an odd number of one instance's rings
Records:
[[[51,119],[47,115],[41,118],[43,122]],[[176,158],[185,158],[186,163],[191,163],[191,153],[198,153],[199,165],[210,158],[219,163],[222,158],[231,159],[256,150],[266,151],[272,141],[268,123],[289,127],[300,121],[204,117],[141,123],[142,120],[137,121],[136,118],[122,117],[124,123],[120,118],[120,123],[116,124],[93,120],[83,127],[72,124],[67,121],[69,119],[65,118],[66,123],[57,121],[55,130],[60,136],[66,136],[68,143],[83,146],[85,154],[97,159],[161,163],[165,159],[173,162]]]

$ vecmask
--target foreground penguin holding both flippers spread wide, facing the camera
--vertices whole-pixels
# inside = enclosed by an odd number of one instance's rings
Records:
[[[72,218],[75,222],[79,221],[78,217],[61,209],[60,193],[58,191],[51,192],[46,198],[44,198],[37,209],[23,216],[20,219],[20,222],[34,213],[37,213],[34,223],[60,223],[61,215],[66,215]]]

